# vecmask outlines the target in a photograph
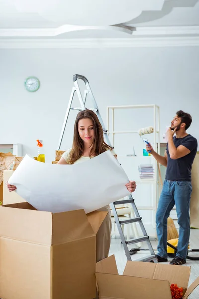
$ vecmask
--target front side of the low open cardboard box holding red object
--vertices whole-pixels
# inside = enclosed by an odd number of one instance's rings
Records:
[[[125,275],[96,273],[100,298],[171,299],[169,282]]]

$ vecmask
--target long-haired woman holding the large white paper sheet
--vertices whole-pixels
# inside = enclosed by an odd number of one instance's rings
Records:
[[[57,164],[75,164],[84,162],[93,158],[106,150],[111,150],[112,154],[116,154],[112,147],[107,145],[103,138],[103,128],[97,115],[89,109],[80,111],[76,117],[74,125],[73,145],[71,149],[65,151]],[[15,186],[7,183],[9,191],[14,191]],[[134,192],[136,184],[130,181],[126,184],[128,191]],[[109,205],[99,209],[98,211],[107,211],[108,215],[104,219],[97,235],[96,235],[96,261],[108,257],[111,241],[111,217]]]

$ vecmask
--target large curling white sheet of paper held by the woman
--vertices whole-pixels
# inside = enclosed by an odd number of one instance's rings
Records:
[[[40,211],[97,210],[129,195],[128,177],[110,150],[75,165],[41,163],[26,155],[8,183]]]

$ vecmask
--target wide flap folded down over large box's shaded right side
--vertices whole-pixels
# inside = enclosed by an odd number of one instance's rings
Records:
[[[61,244],[95,236],[84,210],[55,213],[52,244]]]

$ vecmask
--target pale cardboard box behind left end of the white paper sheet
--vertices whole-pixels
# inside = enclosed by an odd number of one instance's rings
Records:
[[[10,176],[14,173],[13,170],[4,170],[3,171],[3,205],[25,202],[25,200],[18,195],[16,192],[9,192],[7,186],[5,185],[6,181],[9,180]]]

